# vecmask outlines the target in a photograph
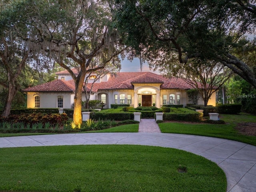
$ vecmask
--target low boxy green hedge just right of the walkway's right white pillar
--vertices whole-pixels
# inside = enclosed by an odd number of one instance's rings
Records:
[[[202,121],[203,114],[170,114],[164,113],[163,120],[165,121]]]

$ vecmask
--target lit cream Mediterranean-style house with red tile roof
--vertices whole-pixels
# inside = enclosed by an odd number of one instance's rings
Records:
[[[78,74],[76,69],[72,69]],[[74,103],[74,81],[67,70],[57,72],[58,79],[23,90],[27,94],[28,108],[72,108]],[[96,78],[88,78],[87,87],[90,88]],[[160,108],[164,104],[186,104],[188,100],[186,90],[192,87],[182,78],[166,78],[152,72],[118,72],[116,76],[110,74],[96,80],[92,87],[90,100],[100,100],[104,108],[111,104],[130,104],[130,106],[152,106]],[[212,94],[208,105],[216,105],[216,94]],[[85,94],[82,96],[85,100]],[[204,104],[198,100],[198,104]]]

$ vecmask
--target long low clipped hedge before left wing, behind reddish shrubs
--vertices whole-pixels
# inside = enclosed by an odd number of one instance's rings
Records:
[[[2,110],[0,110],[0,113],[2,114]],[[23,109],[11,109],[10,114],[12,115],[19,115],[23,113],[59,113],[58,108],[23,108]]]

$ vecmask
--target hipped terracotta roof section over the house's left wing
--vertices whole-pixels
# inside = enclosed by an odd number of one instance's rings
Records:
[[[75,86],[64,80],[54,80],[48,83],[23,89],[23,92],[74,92]]]

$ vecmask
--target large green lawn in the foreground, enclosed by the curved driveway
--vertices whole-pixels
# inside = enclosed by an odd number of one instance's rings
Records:
[[[226,192],[225,174],[215,163],[171,148],[1,148],[0,167],[0,191]],[[178,172],[179,167],[187,172]]]

